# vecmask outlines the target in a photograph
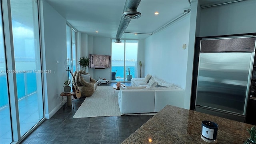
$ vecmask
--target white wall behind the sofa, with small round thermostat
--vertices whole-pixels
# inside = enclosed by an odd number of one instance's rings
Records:
[[[172,82],[185,89],[190,14],[145,40],[145,75]]]

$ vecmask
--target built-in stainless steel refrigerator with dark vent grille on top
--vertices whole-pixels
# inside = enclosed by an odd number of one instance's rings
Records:
[[[202,39],[195,110],[244,122],[256,37]]]

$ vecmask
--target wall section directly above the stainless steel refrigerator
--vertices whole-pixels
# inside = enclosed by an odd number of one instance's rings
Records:
[[[204,8],[200,19],[200,36],[256,32],[256,0]]]

